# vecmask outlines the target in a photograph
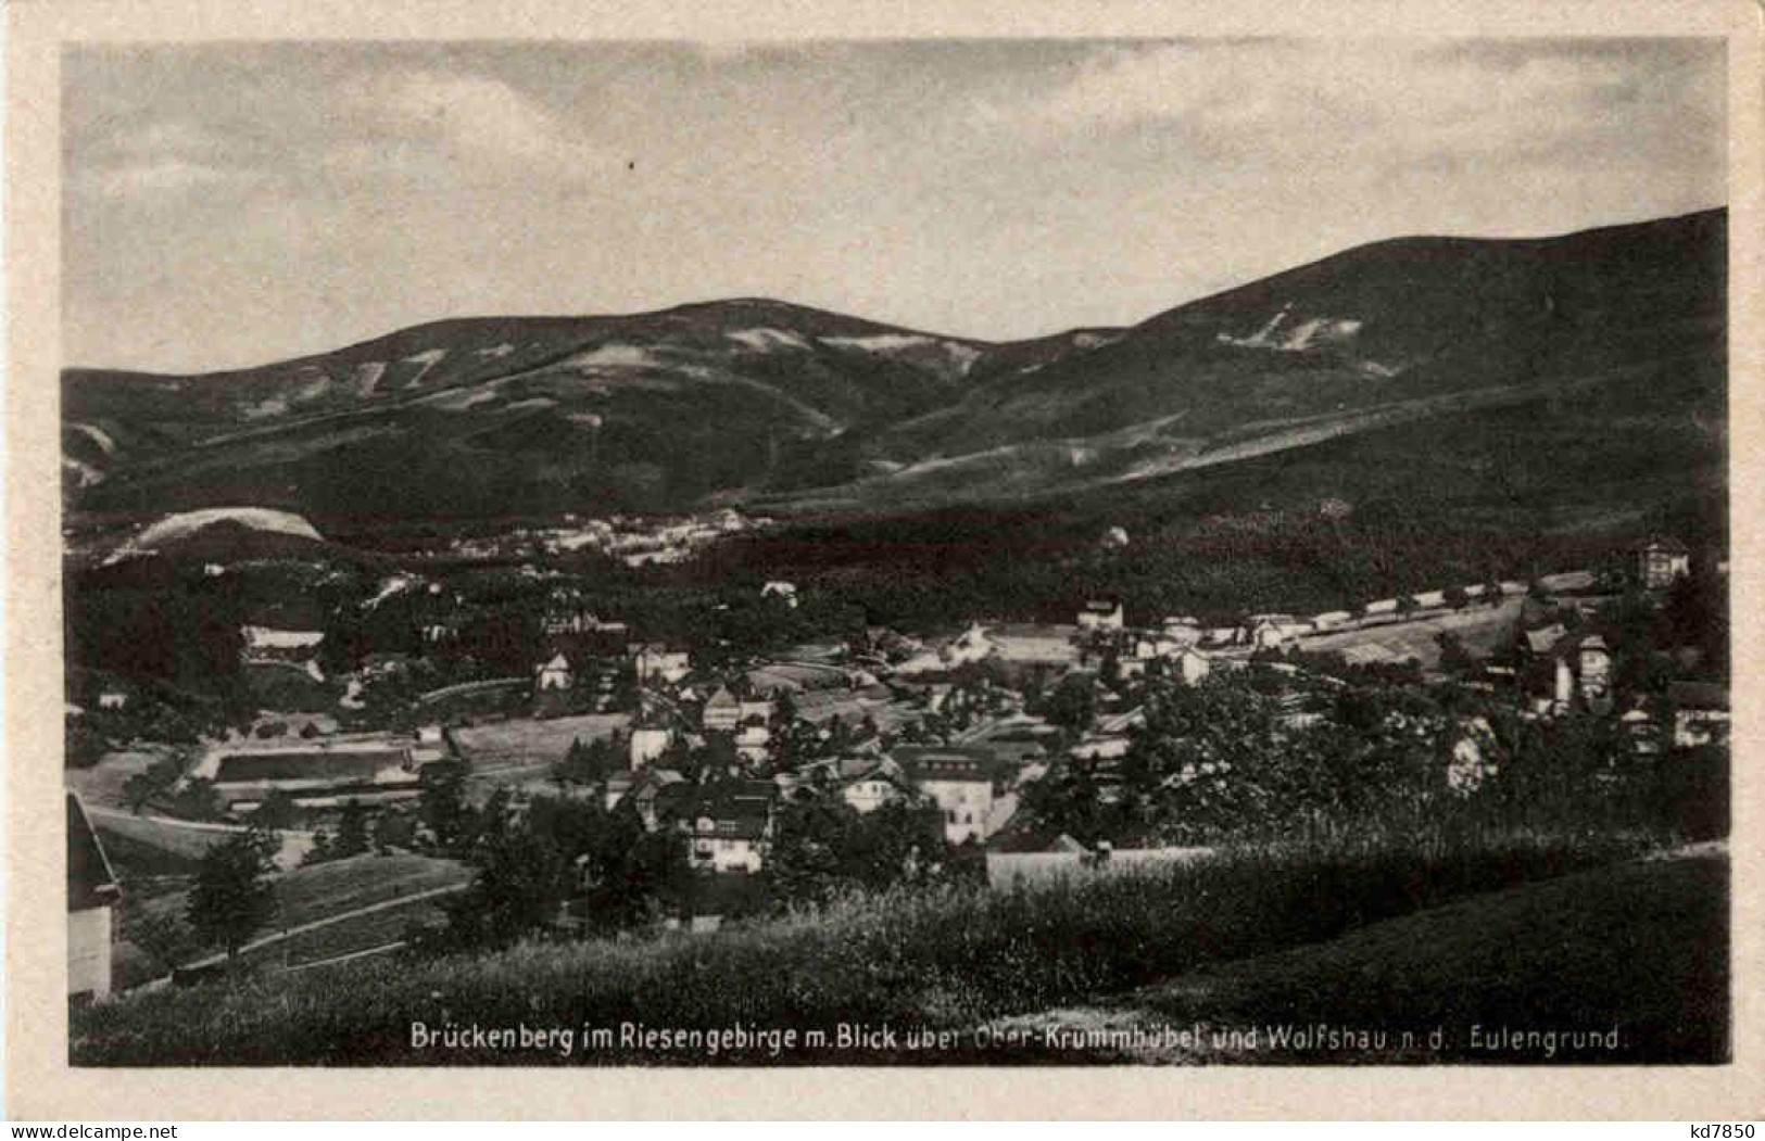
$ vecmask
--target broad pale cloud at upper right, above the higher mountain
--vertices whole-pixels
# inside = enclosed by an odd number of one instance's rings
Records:
[[[1500,155],[1588,134],[1671,132],[1675,115],[1721,113],[1719,56],[1684,44],[1652,56],[1523,42],[1500,53],[1410,41],[1183,42],[1101,49],[1066,83],[978,122],[1025,138],[1163,125],[1204,153],[1280,157]]]

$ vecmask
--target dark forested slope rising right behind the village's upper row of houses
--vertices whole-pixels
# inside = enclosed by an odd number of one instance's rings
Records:
[[[1601,566],[1649,533],[1726,541],[1721,362],[1597,395],[1401,423],[1100,490],[803,513],[671,571],[814,582],[872,621],[1055,619],[1121,598],[1135,621],[1357,607],[1495,573]],[[1327,517],[1326,503],[1347,506]],[[1100,550],[1112,527],[1130,545]],[[1070,619],[1068,619],[1070,621]]]

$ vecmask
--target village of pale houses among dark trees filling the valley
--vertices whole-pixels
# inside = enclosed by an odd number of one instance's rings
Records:
[[[1115,527],[1101,548],[1126,543]],[[353,601],[235,589],[288,573],[275,559],[184,564],[245,619],[185,631],[224,711],[74,677],[76,998],[238,963],[710,935],[845,891],[1015,891],[1191,861],[1356,799],[1472,801],[1539,755],[1626,787],[1726,746],[1703,635],[1726,564],[1675,538],[1530,582],[1230,621],[1084,598],[1059,623],[822,631],[815,582],[764,580],[706,598],[695,637],[600,608],[591,577],[545,563],[556,548],[450,554]],[[1288,769],[1341,749],[1359,772],[1296,792]],[[231,884],[222,859],[245,868]],[[245,903],[199,903],[205,875]]]

